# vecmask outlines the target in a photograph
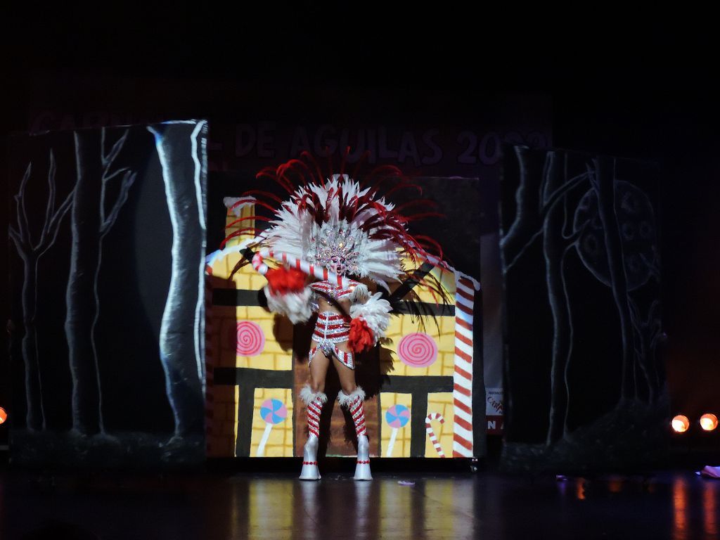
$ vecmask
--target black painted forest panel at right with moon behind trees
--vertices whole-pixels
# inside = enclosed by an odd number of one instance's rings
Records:
[[[662,459],[658,174],[652,163],[506,148],[507,469]]]

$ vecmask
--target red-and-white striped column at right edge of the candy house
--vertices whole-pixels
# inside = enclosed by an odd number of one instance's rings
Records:
[[[455,371],[453,405],[455,411],[452,455],[472,457],[472,307],[480,284],[455,273]]]

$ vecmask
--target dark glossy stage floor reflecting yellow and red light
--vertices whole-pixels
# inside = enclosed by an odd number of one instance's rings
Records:
[[[690,471],[300,482],[289,474],[0,470],[3,540],[710,539],[720,537],[719,514],[720,481]]]

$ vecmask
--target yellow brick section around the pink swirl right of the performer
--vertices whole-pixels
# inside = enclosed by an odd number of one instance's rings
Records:
[[[437,326],[436,323],[437,322]],[[424,324],[424,328],[423,328]],[[439,332],[438,332],[439,327]],[[412,366],[405,364],[398,347],[405,336],[410,334],[423,332],[429,336],[437,348],[437,359],[428,366]],[[426,318],[423,323],[418,318],[410,315],[398,315],[390,318],[390,325],[387,328],[387,337],[390,341],[384,343],[392,351],[391,354],[383,356],[385,362],[392,361],[392,366],[382,366],[382,373],[390,373],[392,375],[449,375],[454,372],[455,367],[455,318],[449,316]],[[429,354],[427,343],[415,343],[418,348],[418,354]],[[408,341],[404,342],[405,346],[412,349],[413,345]],[[419,364],[423,364],[422,361]]]

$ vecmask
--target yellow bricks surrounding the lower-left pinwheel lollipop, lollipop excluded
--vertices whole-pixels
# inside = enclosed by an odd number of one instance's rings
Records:
[[[260,408],[265,400],[276,399],[287,408],[287,418],[276,423],[270,430],[265,445],[265,457],[292,457],[292,390],[284,388],[256,388],[253,409],[253,434],[250,442],[250,455],[257,456],[258,445],[267,426],[260,415]]]

